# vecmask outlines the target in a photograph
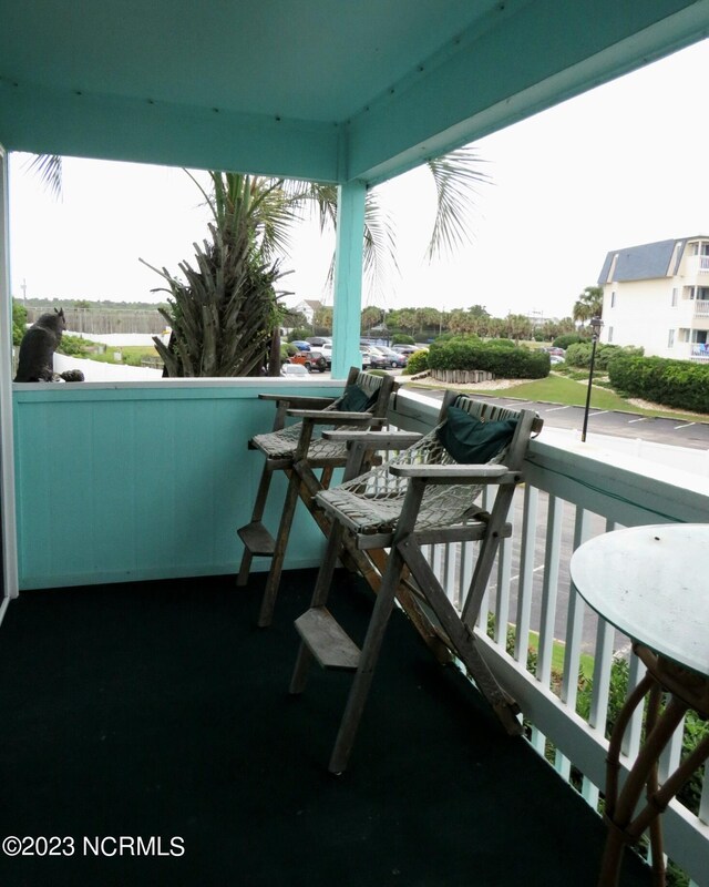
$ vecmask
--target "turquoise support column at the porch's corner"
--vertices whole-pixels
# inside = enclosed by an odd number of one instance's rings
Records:
[[[332,378],[343,379],[359,366],[359,325],[362,310],[362,245],[367,186],[352,181],[340,185],[337,202],[335,312],[332,318]]]

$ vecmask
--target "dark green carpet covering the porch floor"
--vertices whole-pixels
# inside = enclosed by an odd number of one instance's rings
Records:
[[[74,852],[0,854],[0,883],[595,887],[600,820],[399,615],[350,769],[327,773],[348,677],[315,670],[304,696],[287,694],[314,579],[287,574],[268,630],[255,626],[263,577],[246,591],[227,578],[13,602],[0,837],[70,836]],[[357,635],[369,595],[340,581]],[[83,836],[104,838],[104,855]],[[152,855],[132,855],[138,836]],[[626,863],[624,885],[648,883]]]

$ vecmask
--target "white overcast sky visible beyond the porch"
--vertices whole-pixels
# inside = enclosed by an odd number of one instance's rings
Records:
[[[492,183],[480,188],[472,244],[443,262],[424,259],[430,174],[380,186],[400,276],[364,302],[562,317],[596,284],[608,251],[709,235],[708,75],[705,41],[477,142]],[[61,203],[28,172],[27,155],[11,157],[10,175],[17,297],[164,298],[138,258],[177,272],[205,236],[207,212],[181,170],[66,159]],[[326,295],[331,248],[316,226],[301,228],[282,282],[295,297]]]

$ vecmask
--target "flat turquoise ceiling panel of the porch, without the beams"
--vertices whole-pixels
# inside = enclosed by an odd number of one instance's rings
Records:
[[[0,30],[7,77],[25,82],[40,77],[60,90],[338,122],[495,3],[16,0],[2,6],[11,7]]]

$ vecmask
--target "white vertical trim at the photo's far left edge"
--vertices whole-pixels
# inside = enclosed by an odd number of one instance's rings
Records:
[[[2,497],[3,597],[19,593],[12,428],[12,298],[10,295],[8,155],[0,146],[0,496]]]

